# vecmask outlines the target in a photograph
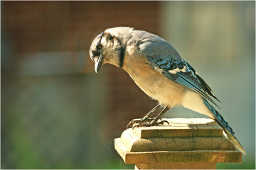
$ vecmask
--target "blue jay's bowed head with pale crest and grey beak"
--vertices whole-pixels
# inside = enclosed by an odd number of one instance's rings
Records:
[[[133,29],[129,27],[109,28],[97,35],[90,46],[90,58],[92,62],[95,62],[96,73],[106,63],[120,67],[120,57],[124,55],[127,35]]]

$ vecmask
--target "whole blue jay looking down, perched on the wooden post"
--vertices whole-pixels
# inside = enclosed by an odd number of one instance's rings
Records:
[[[129,27],[109,28],[92,41],[90,58],[95,62],[96,73],[107,63],[121,67],[142,91],[159,102],[144,118],[132,120],[127,128],[163,124],[161,116],[166,111],[184,106],[215,120],[245,154],[230,125],[210,105],[217,106],[212,98],[218,98],[206,81],[163,38]],[[159,115],[150,118],[154,113]]]

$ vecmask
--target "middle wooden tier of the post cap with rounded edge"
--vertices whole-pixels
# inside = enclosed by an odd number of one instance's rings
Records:
[[[235,150],[234,145],[226,137],[158,137],[142,139],[132,128],[122,133],[121,140],[129,152]]]

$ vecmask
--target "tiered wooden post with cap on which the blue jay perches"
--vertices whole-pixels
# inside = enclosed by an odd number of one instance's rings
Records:
[[[114,139],[125,164],[135,169],[216,169],[217,162],[242,162],[242,153],[211,119],[163,119],[169,125],[129,128]]]

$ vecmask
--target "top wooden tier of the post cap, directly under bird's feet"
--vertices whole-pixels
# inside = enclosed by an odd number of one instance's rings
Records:
[[[214,120],[205,118],[174,118],[169,125],[134,128],[141,138],[152,137],[223,137],[223,129]]]

